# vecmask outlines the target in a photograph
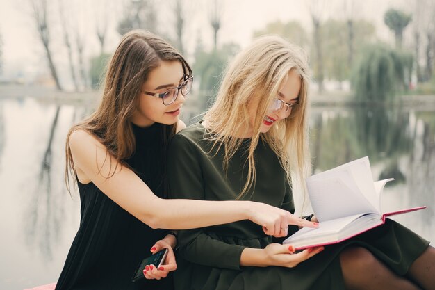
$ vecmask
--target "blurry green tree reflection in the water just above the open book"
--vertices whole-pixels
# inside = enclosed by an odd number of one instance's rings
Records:
[[[311,148],[315,166],[334,168],[353,159],[370,156],[370,163],[383,161],[388,173],[400,177],[397,157],[409,152],[409,114],[384,106],[365,106],[313,122]],[[391,176],[390,176],[391,177]]]

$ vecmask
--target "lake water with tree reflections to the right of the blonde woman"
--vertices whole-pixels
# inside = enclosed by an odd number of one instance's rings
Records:
[[[395,178],[382,196],[382,208],[427,205],[393,219],[435,240],[435,108],[315,108],[311,119],[313,171],[369,156],[375,179]]]

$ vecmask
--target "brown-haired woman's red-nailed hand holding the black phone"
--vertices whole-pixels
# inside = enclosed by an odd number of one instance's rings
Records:
[[[159,250],[163,250],[167,248],[168,252],[163,261],[163,264],[156,268],[154,265],[147,265],[143,271],[145,278],[147,279],[156,279],[161,280],[161,278],[165,278],[170,271],[175,271],[177,269],[177,263],[175,261],[174,250],[172,250],[172,246],[174,243],[170,241],[170,234],[165,236],[165,239],[157,241],[151,248],[151,252],[154,254]],[[173,237],[173,236],[172,236]]]

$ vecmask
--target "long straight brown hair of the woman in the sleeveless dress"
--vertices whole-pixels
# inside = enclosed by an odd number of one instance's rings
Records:
[[[76,174],[69,136],[77,129],[88,131],[106,147],[107,154],[126,165],[123,160],[133,154],[136,146],[130,120],[139,104],[140,88],[161,61],[179,61],[184,74],[192,76],[192,69],[183,56],[162,38],[143,30],[124,35],[108,64],[97,111],[74,125],[67,134],[65,182],[69,192],[69,176],[75,180]],[[176,124],[163,126],[164,144],[167,145],[175,129]],[[113,173],[115,170],[116,166]]]

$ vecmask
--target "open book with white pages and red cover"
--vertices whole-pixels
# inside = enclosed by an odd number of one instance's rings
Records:
[[[309,177],[306,186],[319,227],[299,229],[284,243],[297,250],[339,243],[384,224],[387,216],[425,209],[382,213],[381,192],[391,180],[373,182],[367,156]]]

